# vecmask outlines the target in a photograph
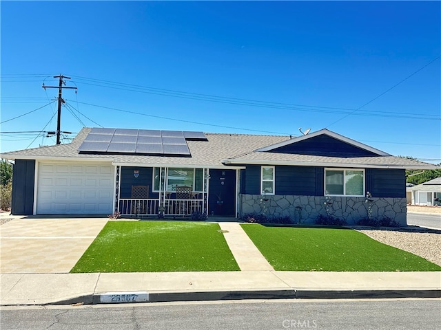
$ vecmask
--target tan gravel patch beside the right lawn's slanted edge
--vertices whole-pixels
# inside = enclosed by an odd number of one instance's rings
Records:
[[[381,230],[354,228],[372,239],[441,266],[441,230],[385,228]]]

